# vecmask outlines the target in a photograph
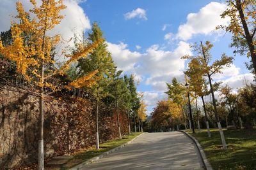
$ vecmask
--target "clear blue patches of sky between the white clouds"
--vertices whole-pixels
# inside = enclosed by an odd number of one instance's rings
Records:
[[[125,49],[130,50],[131,52],[147,53],[147,49],[152,45],[159,45],[164,51],[175,50],[175,48],[179,46],[180,39],[166,40],[164,39],[164,36],[168,33],[173,35],[177,34],[179,32],[180,25],[186,24],[188,21],[187,17],[189,13],[198,13],[200,9],[204,8],[211,2],[223,3],[223,1],[184,0],[163,0],[160,2],[154,0],[87,0],[86,3],[82,3],[81,6],[86,12],[86,15],[88,15],[90,18],[91,22],[99,22],[100,27],[104,31],[104,36],[109,43],[124,43],[127,45]],[[131,19],[125,18],[125,13],[131,13],[132,10],[136,10],[138,8],[145,10],[145,17],[134,17]],[[210,22],[212,22],[211,20],[214,19],[214,17],[209,18]],[[204,20],[202,20],[202,22],[204,22]],[[200,24],[204,25],[204,23]],[[164,25],[166,25],[166,28],[163,30]],[[185,42],[194,43],[206,40],[212,41],[212,43],[214,43],[214,48],[212,48],[212,56],[214,59],[218,59],[223,52],[227,53],[227,55],[233,55],[232,51],[234,49],[229,47],[230,38],[231,36],[229,33],[220,32],[220,34],[218,34],[212,31],[211,34],[194,34],[192,38],[189,38]],[[136,49],[136,45],[141,46],[141,48]],[[226,80],[232,76],[248,73],[248,70],[244,67],[244,62],[246,61],[248,61],[246,57],[236,56],[234,65],[236,71],[239,69],[239,73],[221,77],[220,80]],[[156,103],[156,98],[161,99],[161,97],[164,97],[162,95],[162,90],[164,89],[156,89],[152,87],[150,83],[145,83],[147,78],[150,77],[150,73],[143,74],[143,76],[145,76],[145,78],[140,80],[141,82],[138,86],[138,90],[146,92],[147,95],[145,97],[152,97],[153,102],[147,102],[150,104],[148,107],[148,110],[150,111],[155,106],[154,104]],[[170,79],[166,81],[170,82],[172,78],[173,76],[170,76]],[[236,85],[234,85],[234,87],[236,87]],[[152,94],[150,94],[150,92],[152,92]],[[157,97],[155,94],[157,94]]]

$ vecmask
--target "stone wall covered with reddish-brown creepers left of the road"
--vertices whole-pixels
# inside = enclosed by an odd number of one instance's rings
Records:
[[[95,103],[77,97],[46,97],[45,158],[63,155],[95,144]],[[36,162],[38,148],[38,97],[11,87],[0,89],[0,169]],[[122,133],[127,117],[120,113]],[[113,108],[100,103],[100,142],[118,138]]]

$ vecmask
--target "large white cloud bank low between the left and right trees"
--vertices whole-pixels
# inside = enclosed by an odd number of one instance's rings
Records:
[[[166,90],[165,82],[170,82],[174,76],[182,78],[184,60],[180,57],[191,55],[189,44],[184,41],[180,41],[173,51],[161,50],[159,45],[152,45],[145,53],[131,52],[124,43],[108,43],[108,50],[118,69],[137,74],[145,80],[143,83],[159,91]]]

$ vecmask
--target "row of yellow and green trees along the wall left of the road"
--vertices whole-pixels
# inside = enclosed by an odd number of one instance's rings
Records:
[[[107,50],[106,40],[97,23],[93,23],[92,32],[69,46],[60,54],[65,61],[56,63],[56,47],[61,36],[52,35],[51,30],[60,24],[63,18],[60,11],[65,9],[62,1],[42,1],[38,6],[31,0],[33,8],[26,12],[20,2],[17,3],[19,23],[12,22],[10,31],[1,32],[0,61],[1,79],[6,85],[13,85],[18,77],[24,81],[24,89],[39,99],[39,136],[38,169],[44,169],[44,99],[48,95],[67,94],[76,91],[77,96],[96,101],[96,148],[99,149],[99,110],[100,102],[114,107],[117,115],[118,138],[122,139],[119,114],[125,110],[127,126],[131,134],[130,119],[134,119],[134,131],[139,123],[143,131],[145,104],[143,96],[136,90],[134,76],[121,76],[111,53]],[[14,80],[14,81],[13,81]],[[2,85],[3,85],[2,84]]]

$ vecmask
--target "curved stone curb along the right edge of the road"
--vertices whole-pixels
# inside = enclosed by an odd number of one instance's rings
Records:
[[[204,169],[212,170],[212,166],[211,166],[210,162],[207,160],[204,150],[203,150],[202,146],[200,145],[200,143],[193,136],[188,134],[187,132],[182,131],[182,130],[179,130],[179,132],[183,132],[184,134],[186,134],[186,136],[188,136],[188,138],[190,138],[193,141],[193,143],[195,143],[196,148],[198,149],[198,151],[200,153],[200,158],[202,159],[202,162],[204,164]]]

